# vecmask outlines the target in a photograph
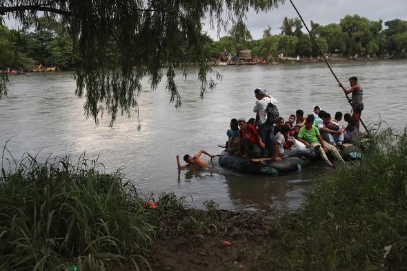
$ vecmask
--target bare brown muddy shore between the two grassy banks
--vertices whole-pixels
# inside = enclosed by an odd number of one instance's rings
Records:
[[[147,260],[152,270],[263,270],[274,221],[275,212],[189,210],[167,221]]]

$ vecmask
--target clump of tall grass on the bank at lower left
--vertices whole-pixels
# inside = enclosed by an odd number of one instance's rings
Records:
[[[38,163],[28,154],[14,168],[1,169],[0,270],[104,270],[122,260],[138,268],[166,206],[183,207],[167,194],[159,211],[146,208],[120,170],[102,174],[84,155]]]

